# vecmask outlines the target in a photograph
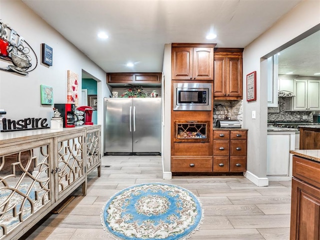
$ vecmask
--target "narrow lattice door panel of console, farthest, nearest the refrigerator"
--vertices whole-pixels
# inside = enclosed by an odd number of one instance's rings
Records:
[[[98,176],[101,169],[100,127],[86,130],[86,165],[87,174],[97,167]]]

